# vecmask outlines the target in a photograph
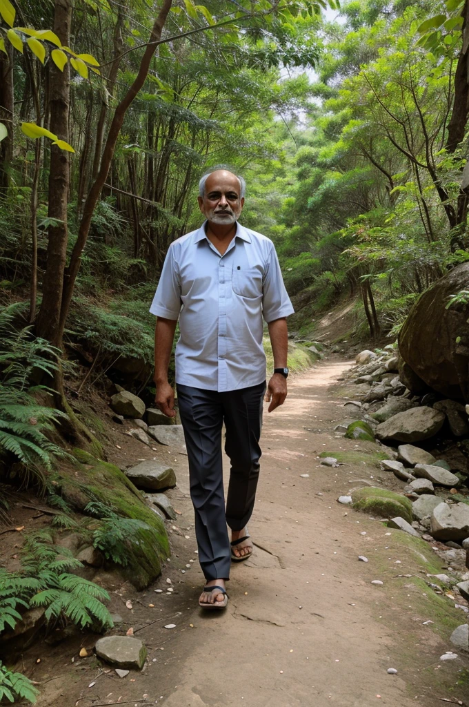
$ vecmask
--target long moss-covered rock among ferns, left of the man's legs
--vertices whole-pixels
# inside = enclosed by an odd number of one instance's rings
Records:
[[[161,574],[162,562],[170,556],[164,522],[146,505],[140,491],[119,467],[81,449],[73,450],[73,455],[76,465],[61,469],[56,477],[66,501],[81,512],[90,501],[100,501],[123,518],[135,518],[148,525],[138,530],[135,542],[129,543],[129,563],[119,568],[137,589],[148,587]]]

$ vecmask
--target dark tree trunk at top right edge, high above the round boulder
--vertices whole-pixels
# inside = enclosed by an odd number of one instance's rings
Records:
[[[469,0],[465,0],[461,16],[463,21],[463,47],[454,74],[453,112],[448,124],[446,149],[453,153],[464,139],[469,107]]]

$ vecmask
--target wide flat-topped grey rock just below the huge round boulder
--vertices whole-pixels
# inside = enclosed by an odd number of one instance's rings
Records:
[[[415,407],[399,412],[376,428],[376,437],[382,441],[420,442],[433,437],[443,426],[445,416],[431,407]]]

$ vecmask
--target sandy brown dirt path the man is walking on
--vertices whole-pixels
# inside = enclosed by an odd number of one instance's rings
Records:
[[[173,494],[183,513],[173,528],[172,561],[158,585],[167,588],[170,578],[174,592],[155,594],[155,585],[134,602],[132,615],[123,607],[131,589],[117,604],[125,627],[135,626],[148,646],[149,664],[125,679],[114,671],[101,674],[89,689],[100,670],[97,662],[88,670],[82,662],[85,674],[77,674],[70,691],[64,694],[57,685],[61,704],[81,699],[83,707],[119,698],[137,707],[441,704],[425,670],[451,646],[422,626],[429,619],[417,603],[422,592],[393,592],[393,578],[409,571],[402,547],[392,542],[400,532],[390,538],[382,522],[336,502],[350,481],[373,483],[366,480],[380,472],[360,460],[331,469],[316,458],[324,450],[376,450],[370,443],[335,438],[332,431],[333,421],[343,417],[343,399],[328,388],[346,366],[323,361],[297,376],[283,408],[264,414],[261,481],[249,525],[256,549],[249,562],[233,567],[227,612],[204,615],[196,605],[203,577],[198,564],[189,563],[196,559],[196,545],[183,462]],[[369,563],[358,561],[361,554]],[[385,580],[384,586],[372,585],[373,579]],[[398,581],[402,588],[408,580]],[[146,608],[147,602],[155,607]],[[176,628],[165,629],[169,623]],[[389,667],[398,675],[387,674]],[[439,696],[448,695],[442,688]],[[40,704],[44,699],[43,694]]]

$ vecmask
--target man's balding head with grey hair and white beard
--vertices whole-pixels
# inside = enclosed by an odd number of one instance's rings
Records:
[[[232,172],[217,170],[208,176],[205,194],[198,197],[202,214],[212,223],[229,225],[235,223],[242,212],[239,179]]]

